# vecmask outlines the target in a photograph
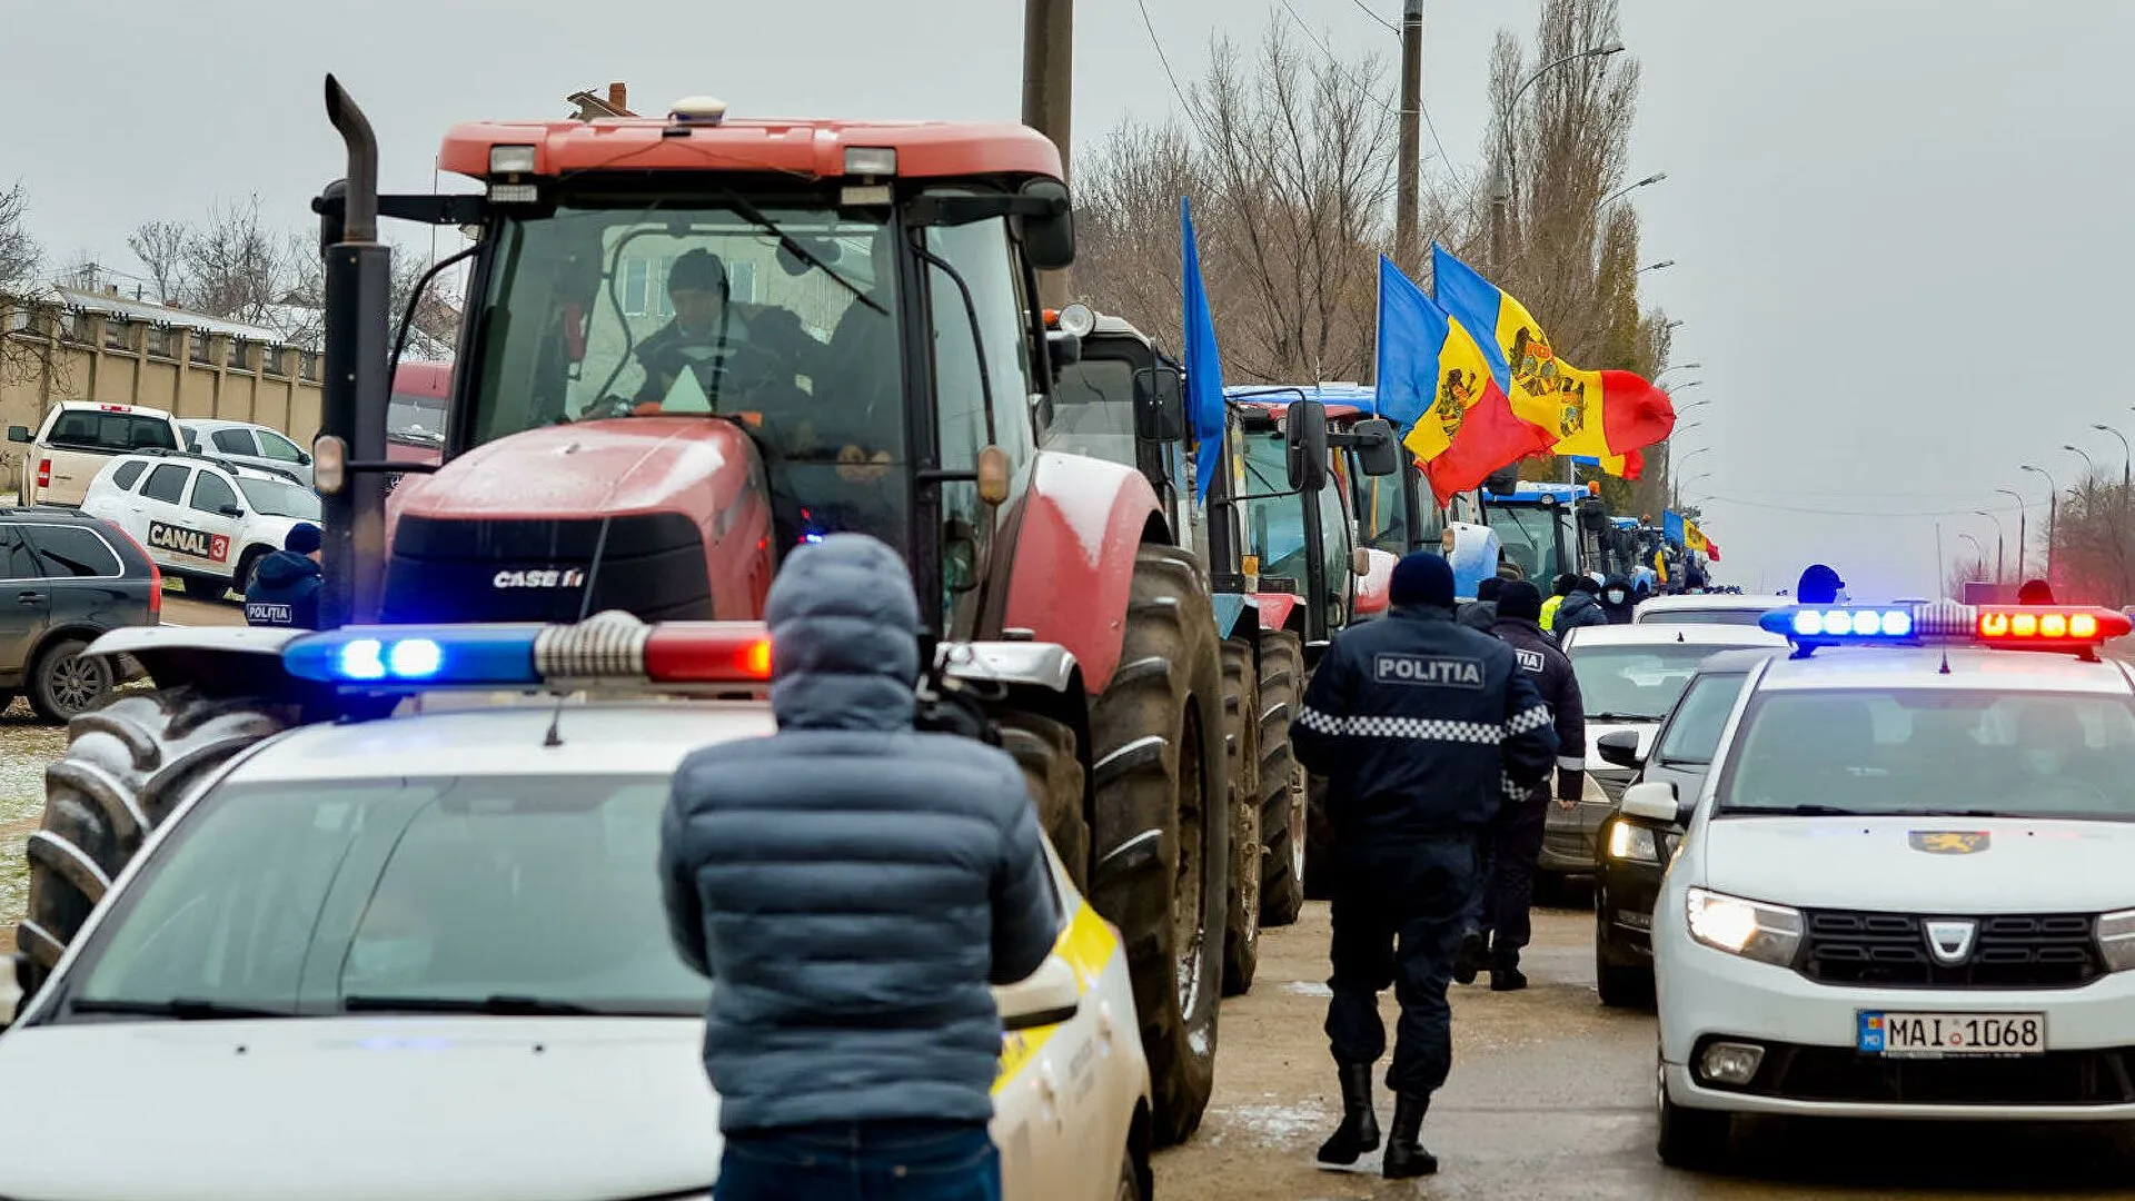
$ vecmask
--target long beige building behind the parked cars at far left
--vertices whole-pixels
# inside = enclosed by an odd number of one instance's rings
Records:
[[[320,357],[265,325],[128,299],[117,288],[0,295],[0,425],[43,421],[62,400],[256,421],[299,444],[318,434]]]

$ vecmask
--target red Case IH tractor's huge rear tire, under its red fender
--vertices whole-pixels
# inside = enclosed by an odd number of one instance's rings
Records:
[[[1155,1139],[1185,1141],[1215,1083],[1230,838],[1215,611],[1185,551],[1134,562],[1119,669],[1091,705],[1089,900],[1127,947]]]

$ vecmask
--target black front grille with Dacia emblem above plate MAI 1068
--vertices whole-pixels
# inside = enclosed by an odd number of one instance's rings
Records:
[[[1821,983],[1868,987],[2077,987],[2105,974],[2082,913],[1975,919],[1971,953],[1941,964],[1926,917],[1913,913],[1808,910],[1796,970]]]

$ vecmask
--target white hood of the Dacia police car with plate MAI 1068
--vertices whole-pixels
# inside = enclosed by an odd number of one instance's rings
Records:
[[[1808,908],[2105,913],[2135,906],[2129,859],[2135,825],[2109,821],[1721,816],[1691,878]]]

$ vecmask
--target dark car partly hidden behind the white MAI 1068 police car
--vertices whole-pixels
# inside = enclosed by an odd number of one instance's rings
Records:
[[[1635,771],[1633,782],[1665,782],[1676,786],[1678,797],[1695,797],[1704,789],[1742,680],[1774,654],[1785,652],[1759,648],[1706,656],[1655,731],[1650,750],[1640,748],[1640,731],[1616,731],[1601,735],[1601,759]],[[1678,842],[1680,825],[1661,827],[1623,812],[1601,821],[1595,840],[1595,981],[1601,1004],[1652,1002],[1652,900]]]

